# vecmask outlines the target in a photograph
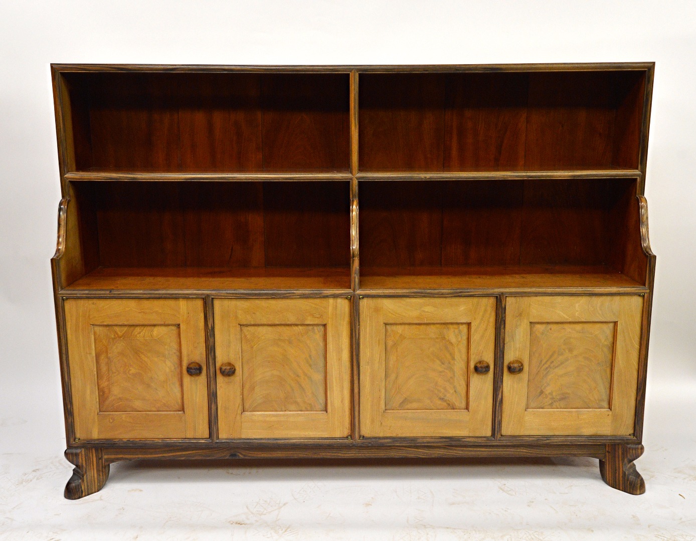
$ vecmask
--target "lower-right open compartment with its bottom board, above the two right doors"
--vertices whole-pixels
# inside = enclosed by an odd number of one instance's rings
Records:
[[[636,179],[370,181],[361,289],[641,287]]]

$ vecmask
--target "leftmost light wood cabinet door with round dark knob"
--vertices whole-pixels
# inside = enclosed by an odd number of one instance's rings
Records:
[[[65,322],[75,437],[209,436],[202,299],[66,299]]]

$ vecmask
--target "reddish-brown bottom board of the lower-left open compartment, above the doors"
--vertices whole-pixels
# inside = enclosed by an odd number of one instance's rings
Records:
[[[65,287],[76,290],[350,289],[350,269],[336,268],[97,268]]]

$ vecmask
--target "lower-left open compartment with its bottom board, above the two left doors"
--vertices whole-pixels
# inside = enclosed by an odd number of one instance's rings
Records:
[[[72,289],[349,289],[348,182],[79,182]]]

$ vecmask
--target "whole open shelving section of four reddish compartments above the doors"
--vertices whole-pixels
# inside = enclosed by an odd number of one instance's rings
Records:
[[[61,72],[62,283],[642,287],[648,86],[638,66]]]

